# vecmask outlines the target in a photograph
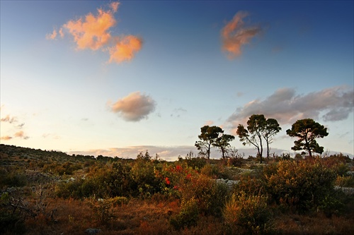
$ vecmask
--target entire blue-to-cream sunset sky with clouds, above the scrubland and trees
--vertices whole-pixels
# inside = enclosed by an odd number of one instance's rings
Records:
[[[173,160],[202,126],[236,136],[264,114],[270,152],[294,155],[286,130],[309,118],[354,155],[353,1],[0,4],[1,144]]]

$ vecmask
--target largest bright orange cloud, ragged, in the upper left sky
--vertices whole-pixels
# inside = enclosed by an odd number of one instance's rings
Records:
[[[110,55],[109,63],[121,63],[134,58],[142,48],[142,39],[134,35],[113,36],[110,29],[117,21],[114,14],[118,11],[119,2],[112,2],[108,10],[97,9],[97,14],[87,14],[77,20],[69,20],[60,30],[53,30],[46,35],[48,40],[54,40],[59,34],[64,37],[64,30],[74,38],[76,49],[101,49]]]

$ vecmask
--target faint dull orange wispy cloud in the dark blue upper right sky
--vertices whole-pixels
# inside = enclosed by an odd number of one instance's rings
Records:
[[[229,59],[234,59],[241,55],[241,47],[249,44],[251,39],[261,32],[258,26],[244,25],[244,18],[249,13],[239,11],[227,25],[222,28],[222,51],[227,52]]]

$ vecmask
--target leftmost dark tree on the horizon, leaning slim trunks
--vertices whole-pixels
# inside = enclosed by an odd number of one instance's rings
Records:
[[[195,147],[200,150],[200,154],[206,155],[210,159],[210,148],[215,143],[220,133],[224,133],[219,126],[203,126],[200,128],[201,134],[198,135],[200,141],[195,141]]]

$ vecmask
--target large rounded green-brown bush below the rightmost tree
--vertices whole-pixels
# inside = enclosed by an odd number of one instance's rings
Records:
[[[265,167],[267,191],[286,207],[299,211],[316,209],[334,191],[336,173],[321,161],[281,161]]]

